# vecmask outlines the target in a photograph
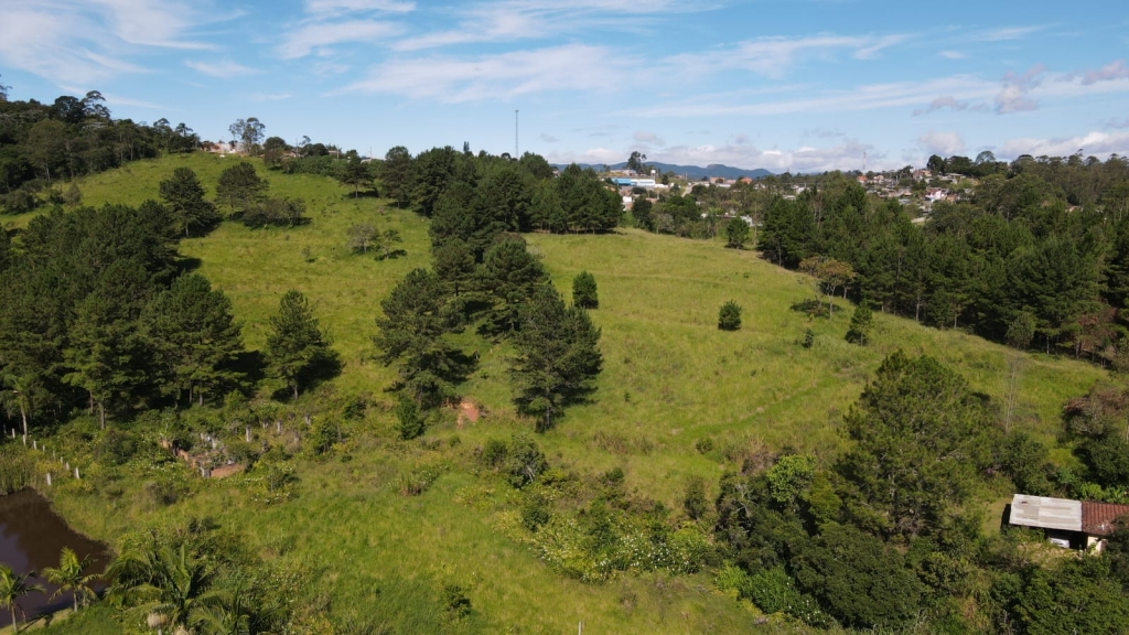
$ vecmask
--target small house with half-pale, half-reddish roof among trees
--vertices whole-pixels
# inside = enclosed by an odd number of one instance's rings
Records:
[[[1005,514],[1008,524],[1041,529],[1059,547],[1101,551],[1129,505],[1016,494]]]

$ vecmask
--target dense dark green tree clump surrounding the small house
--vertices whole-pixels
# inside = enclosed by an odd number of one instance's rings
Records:
[[[1123,393],[1076,400],[1067,428],[1123,443]],[[719,575],[767,612],[814,626],[945,633],[1123,633],[1129,524],[1104,555],[1040,557],[1036,533],[981,532],[980,496],[1080,494],[1048,478],[1047,449],[996,424],[992,405],[929,357],[894,354],[847,417],[850,445],[820,467],[781,454],[721,479],[715,533],[735,563]],[[1123,447],[1118,451],[1123,460]],[[1104,451],[1103,451],[1104,452]],[[1114,454],[1115,452],[1104,452]],[[1094,478],[1129,484],[1110,462]],[[1091,492],[1093,488],[1091,487]],[[1048,553],[1050,556],[1050,553]]]

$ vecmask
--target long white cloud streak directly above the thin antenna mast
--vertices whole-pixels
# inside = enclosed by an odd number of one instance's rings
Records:
[[[342,90],[444,103],[554,90],[611,90],[622,85],[615,71],[622,61],[604,46],[585,44],[474,58],[393,59]]]

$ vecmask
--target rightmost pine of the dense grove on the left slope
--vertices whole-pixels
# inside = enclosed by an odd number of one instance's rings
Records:
[[[156,354],[164,392],[203,403],[204,395],[226,394],[243,380],[234,368],[243,338],[231,301],[203,276],[174,280],[146,307],[141,328]]]

